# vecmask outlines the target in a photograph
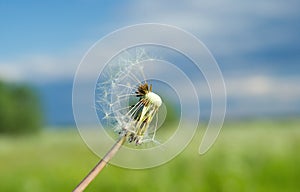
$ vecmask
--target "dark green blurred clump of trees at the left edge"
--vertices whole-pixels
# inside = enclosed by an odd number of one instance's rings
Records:
[[[0,81],[0,134],[37,132],[42,118],[40,100],[32,87]]]

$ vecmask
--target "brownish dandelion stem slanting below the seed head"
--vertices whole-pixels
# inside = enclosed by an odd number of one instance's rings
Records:
[[[118,152],[121,146],[126,141],[126,134],[120,137],[112,148],[106,153],[106,155],[97,163],[97,165],[89,172],[89,174],[77,185],[73,192],[83,191],[102,171],[105,165],[113,158],[113,156]]]

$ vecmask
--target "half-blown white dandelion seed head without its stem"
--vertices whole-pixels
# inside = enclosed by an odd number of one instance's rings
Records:
[[[106,65],[96,88],[101,124],[136,144],[154,141],[157,123],[150,123],[162,104],[143,70],[142,63],[152,59],[142,49],[121,53]]]

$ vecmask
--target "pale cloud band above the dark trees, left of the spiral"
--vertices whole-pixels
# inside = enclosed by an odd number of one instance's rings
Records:
[[[83,53],[64,55],[32,54],[0,61],[0,78],[6,81],[53,81],[73,78]]]

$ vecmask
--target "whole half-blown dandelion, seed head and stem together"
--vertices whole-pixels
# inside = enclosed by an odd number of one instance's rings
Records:
[[[121,70],[116,74],[113,74],[113,71],[116,71],[115,66],[108,68],[109,73],[106,74],[109,77],[108,80],[99,83],[98,88],[102,94],[99,95],[98,103],[102,111],[102,120],[110,126],[112,125],[111,122],[114,122],[115,131],[118,132],[119,138],[79,183],[74,192],[83,191],[126,141],[135,143],[135,145],[154,141],[157,130],[158,109],[162,104],[162,100],[158,94],[152,92],[152,85],[147,83],[143,70],[139,65],[140,62],[148,59],[144,53],[144,51],[142,51],[142,54],[137,52],[133,61],[131,59],[118,62],[118,67]],[[139,80],[137,71],[139,71],[144,81]],[[132,82],[136,82],[138,85],[131,86]],[[132,97],[137,98],[137,102],[130,105],[130,98]],[[155,116],[154,130],[150,131],[150,123]]]

